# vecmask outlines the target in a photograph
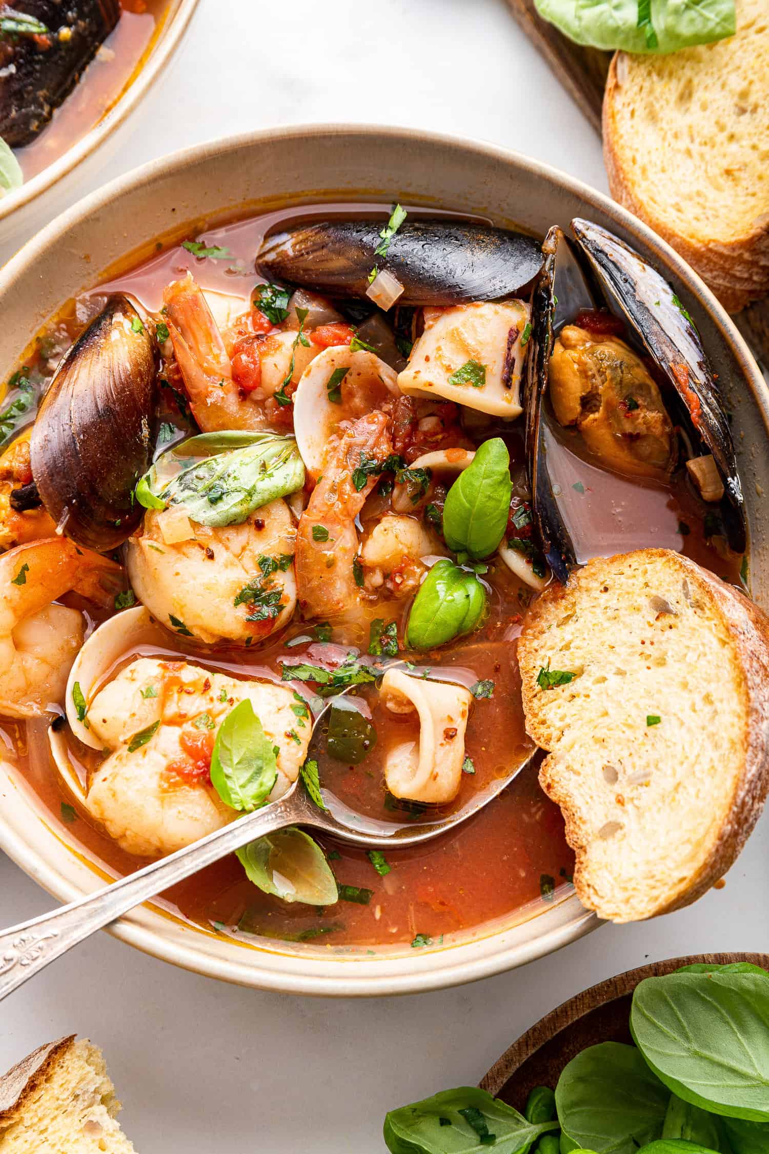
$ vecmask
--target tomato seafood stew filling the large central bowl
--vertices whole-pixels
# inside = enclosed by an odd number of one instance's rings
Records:
[[[349,293],[321,295],[303,263],[324,224],[329,252],[352,245]],[[24,787],[108,870],[300,773],[382,823],[461,807],[530,756],[514,642],[550,580],[648,545],[747,580],[711,381],[671,382],[656,331],[591,270],[587,223],[544,255],[462,224],[318,207],[158,242],[12,376],[2,728]],[[446,256],[458,234],[489,286],[473,280],[474,299]],[[680,302],[665,322],[699,346]],[[559,676],[543,669],[543,685]],[[427,846],[318,840],[244,852],[165,900],[235,939],[382,951],[488,932],[571,892],[536,765]]]

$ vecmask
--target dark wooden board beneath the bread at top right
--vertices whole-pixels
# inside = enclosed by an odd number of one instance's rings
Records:
[[[507,0],[507,3],[526,36],[601,135],[601,107],[611,52],[586,48],[567,39],[538,15],[534,0]],[[734,321],[769,383],[769,299],[755,301],[738,313]]]

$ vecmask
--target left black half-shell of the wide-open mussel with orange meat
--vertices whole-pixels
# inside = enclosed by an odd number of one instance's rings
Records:
[[[550,352],[553,342],[558,253],[566,243],[563,232],[555,226],[548,232],[542,246],[544,263],[534,286],[531,332],[523,384],[526,466],[531,492],[534,527],[545,561],[561,584],[568,579],[570,571],[576,564],[576,556],[550,485],[542,405],[548,391]]]

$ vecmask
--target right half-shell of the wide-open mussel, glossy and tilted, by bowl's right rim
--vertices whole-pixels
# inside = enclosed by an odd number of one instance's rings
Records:
[[[687,425],[713,457],[724,482],[726,537],[744,553],[747,530],[737,455],[700,335],[668,282],[638,253],[600,225],[576,218],[572,231],[613,312],[629,324],[678,394]],[[560,298],[559,298],[560,299]]]

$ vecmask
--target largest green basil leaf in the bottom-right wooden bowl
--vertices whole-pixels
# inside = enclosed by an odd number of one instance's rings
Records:
[[[678,1097],[711,1114],[769,1122],[769,982],[714,972],[647,977],[631,1033]]]

